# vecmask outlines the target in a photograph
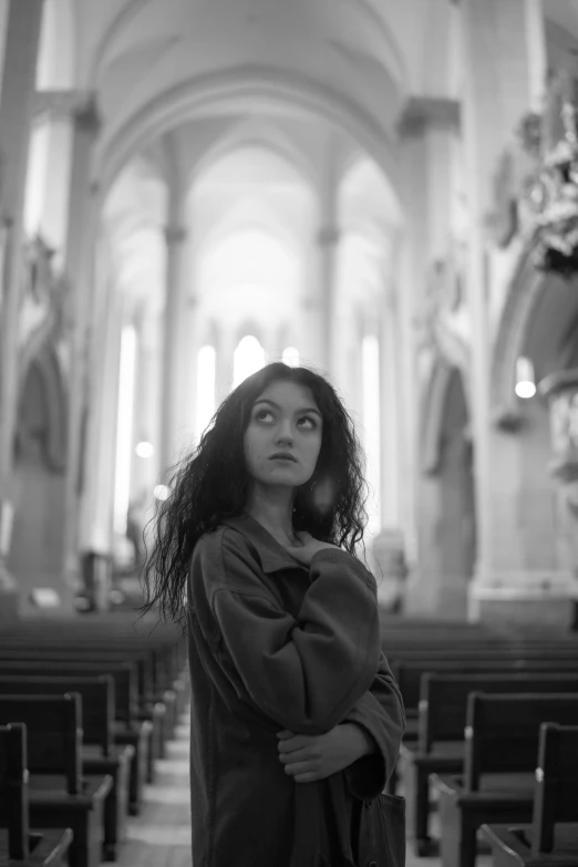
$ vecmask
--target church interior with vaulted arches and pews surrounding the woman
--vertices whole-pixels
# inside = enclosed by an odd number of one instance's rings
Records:
[[[0,0],[0,863],[192,864],[146,534],[271,361],[363,446],[407,867],[578,867],[578,0]]]

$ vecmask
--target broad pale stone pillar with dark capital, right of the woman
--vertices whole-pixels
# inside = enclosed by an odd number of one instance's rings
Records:
[[[396,303],[402,331],[398,368],[403,382],[400,406],[405,434],[400,435],[403,498],[401,527],[412,561],[406,611],[412,615],[464,618],[469,568],[446,565],[455,548],[455,528],[444,519],[446,479],[425,477],[423,431],[432,407],[432,371],[444,359],[437,321],[447,316],[445,299],[432,293],[435,261],[446,260],[454,238],[455,169],[460,106],[452,100],[411,99],[400,123],[400,177],[406,214],[405,238],[398,256],[402,275]],[[394,245],[400,247],[401,245]],[[447,361],[447,360],[446,360]],[[409,484],[412,479],[413,484]],[[465,562],[465,561],[464,561]]]

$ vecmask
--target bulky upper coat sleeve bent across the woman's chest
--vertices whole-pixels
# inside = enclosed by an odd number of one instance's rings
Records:
[[[380,625],[373,576],[347,551],[323,549],[297,618],[262,584],[251,554],[225,533],[205,548],[204,580],[227,580],[211,597],[221,664],[237,691],[281,727],[322,734],[375,678]],[[223,652],[224,651],[224,652]]]

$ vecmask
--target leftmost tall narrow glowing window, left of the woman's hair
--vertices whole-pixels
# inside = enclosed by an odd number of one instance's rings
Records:
[[[116,422],[116,472],[114,484],[114,530],[126,533],[131,497],[131,457],[133,452],[133,404],[136,362],[136,331],[123,328],[118,373],[118,415]]]

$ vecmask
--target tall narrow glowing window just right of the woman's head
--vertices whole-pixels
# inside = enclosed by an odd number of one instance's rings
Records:
[[[380,461],[380,344],[376,337],[364,337],[362,343],[363,445],[368,461],[368,529],[378,533],[381,526]]]

